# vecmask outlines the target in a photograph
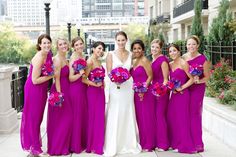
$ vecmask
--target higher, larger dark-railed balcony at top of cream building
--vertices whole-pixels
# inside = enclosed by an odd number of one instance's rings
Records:
[[[195,0],[187,0],[174,7],[173,18],[194,10],[194,1]],[[202,9],[208,9],[208,0],[202,0]]]

